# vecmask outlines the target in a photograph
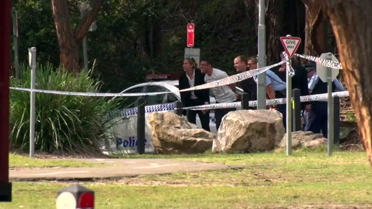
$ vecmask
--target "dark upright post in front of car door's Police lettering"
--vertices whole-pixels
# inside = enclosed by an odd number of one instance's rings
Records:
[[[137,101],[137,152],[145,154],[145,99]]]

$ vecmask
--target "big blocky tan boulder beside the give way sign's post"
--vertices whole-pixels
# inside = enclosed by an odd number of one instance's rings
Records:
[[[270,151],[285,129],[282,113],[274,110],[237,110],[222,118],[213,152]]]

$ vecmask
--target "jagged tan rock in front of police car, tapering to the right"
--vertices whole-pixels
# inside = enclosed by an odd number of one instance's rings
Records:
[[[174,113],[153,113],[149,123],[157,154],[195,154],[212,148],[215,134],[198,128]]]

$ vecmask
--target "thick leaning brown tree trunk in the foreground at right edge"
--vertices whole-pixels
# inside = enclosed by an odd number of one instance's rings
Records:
[[[350,92],[357,124],[370,165],[372,166],[372,1],[318,0],[327,12],[340,61],[343,77]]]

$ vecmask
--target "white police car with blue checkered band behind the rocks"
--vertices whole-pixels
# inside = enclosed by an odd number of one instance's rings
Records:
[[[171,80],[172,75],[147,75],[151,80],[131,86],[121,93],[154,93],[169,92],[166,94],[145,95],[138,97],[125,97],[121,104],[120,114],[113,116],[114,125],[110,128],[112,140],[105,143],[104,153],[124,152],[128,154],[137,153],[137,108],[135,103],[138,99],[145,99],[145,152],[153,153],[154,147],[151,143],[151,125],[148,118],[153,112],[174,112],[174,103],[181,101],[178,91],[178,79]],[[210,98],[211,103],[215,103],[214,97]],[[184,116],[186,119],[186,116]],[[217,133],[214,111],[209,113],[209,126],[211,132]],[[201,128],[199,116],[196,116],[196,125]]]

